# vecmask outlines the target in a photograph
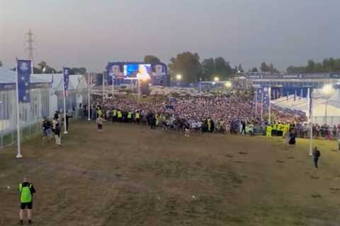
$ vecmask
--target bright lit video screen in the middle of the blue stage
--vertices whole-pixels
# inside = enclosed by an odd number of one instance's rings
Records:
[[[152,75],[151,64],[125,64],[124,76],[127,79],[150,79]]]

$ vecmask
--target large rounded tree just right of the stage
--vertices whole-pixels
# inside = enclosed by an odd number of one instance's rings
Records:
[[[197,53],[183,52],[172,57],[169,64],[171,69],[171,76],[174,78],[176,74],[181,74],[185,82],[199,81],[202,76],[202,66],[200,64],[200,57]]]

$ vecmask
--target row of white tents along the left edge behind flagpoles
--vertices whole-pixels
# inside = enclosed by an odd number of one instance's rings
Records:
[[[29,103],[20,105],[22,124],[33,123],[42,117],[52,117],[63,109],[62,74],[32,74]],[[77,110],[87,103],[88,85],[85,76],[69,76],[66,98],[67,110]],[[0,67],[0,132],[16,126],[16,71]]]

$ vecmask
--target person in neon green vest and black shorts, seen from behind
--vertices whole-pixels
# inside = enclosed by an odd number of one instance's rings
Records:
[[[27,181],[26,177],[23,177],[23,183],[19,184],[20,193],[20,224],[23,225],[23,210],[27,208],[28,224],[32,223],[32,208],[33,208],[33,193],[35,189],[33,184]]]

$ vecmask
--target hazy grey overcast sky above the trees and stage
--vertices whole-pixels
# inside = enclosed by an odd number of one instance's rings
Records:
[[[339,0],[0,0],[0,60],[27,57],[31,28],[35,62],[56,69],[183,51],[285,69],[340,57],[339,11]]]

